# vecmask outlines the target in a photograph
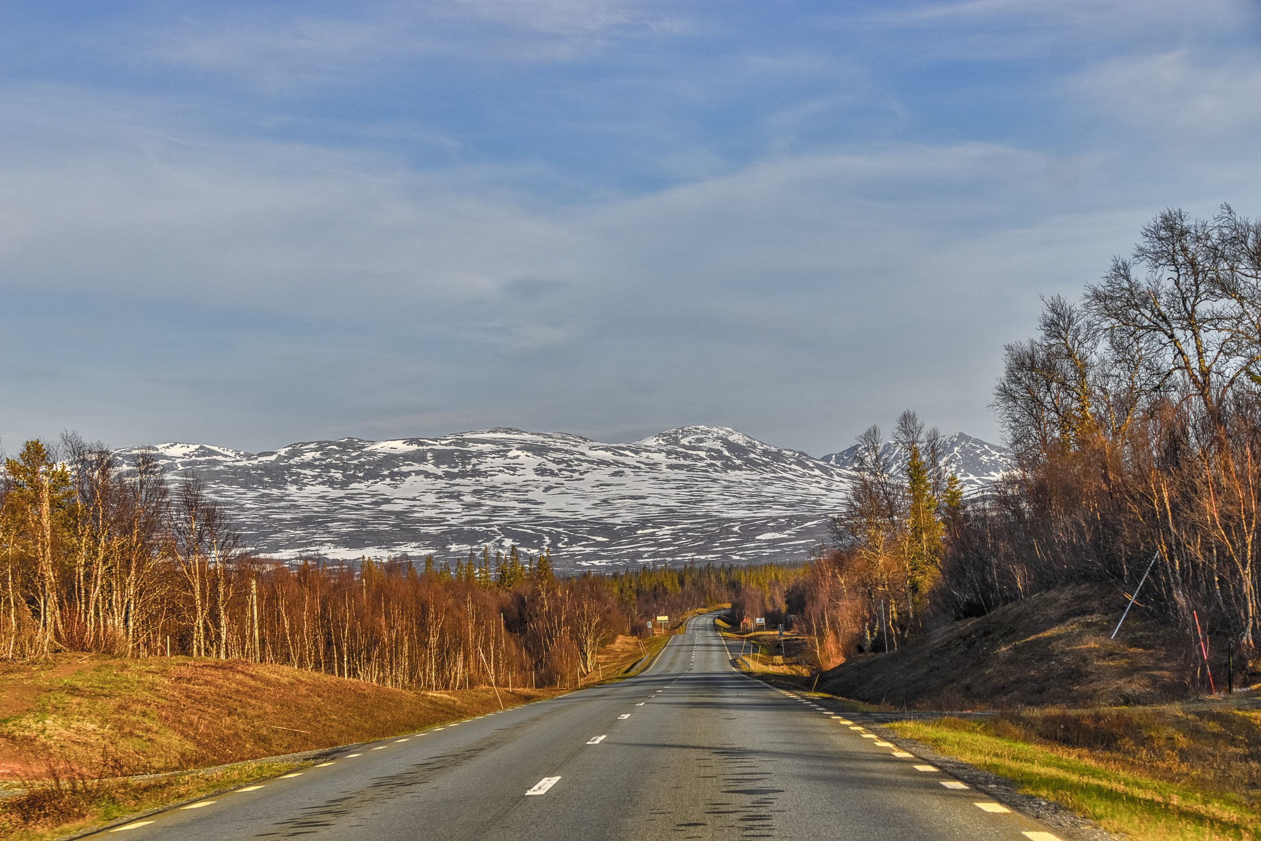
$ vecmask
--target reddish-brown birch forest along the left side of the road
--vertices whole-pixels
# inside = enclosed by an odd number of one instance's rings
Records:
[[[657,615],[779,593],[799,570],[649,566],[559,577],[552,559],[288,565],[252,556],[194,474],[64,435],[0,474],[0,658],[58,651],[245,658],[386,686],[575,685]]]

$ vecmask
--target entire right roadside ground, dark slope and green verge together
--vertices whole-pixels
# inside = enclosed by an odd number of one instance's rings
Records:
[[[1111,639],[1119,610],[1087,588],[1047,593],[856,657],[813,692],[760,656],[750,671],[839,711],[1008,710],[889,726],[1132,838],[1261,838],[1261,706],[1169,704],[1190,695],[1177,641],[1139,614]]]

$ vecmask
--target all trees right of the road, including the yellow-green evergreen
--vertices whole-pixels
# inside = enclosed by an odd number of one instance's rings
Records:
[[[965,499],[937,438],[876,427],[835,547],[788,594],[827,666],[1069,583],[1256,657],[1261,633],[1261,223],[1160,213],[1078,300],[1004,349],[992,409],[1015,468]],[[1124,605],[1124,598],[1119,598]]]

